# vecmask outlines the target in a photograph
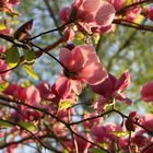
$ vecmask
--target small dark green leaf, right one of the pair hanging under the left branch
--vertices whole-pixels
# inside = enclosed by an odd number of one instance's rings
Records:
[[[35,59],[35,51],[33,49],[23,49],[23,52],[27,61],[33,61]]]

